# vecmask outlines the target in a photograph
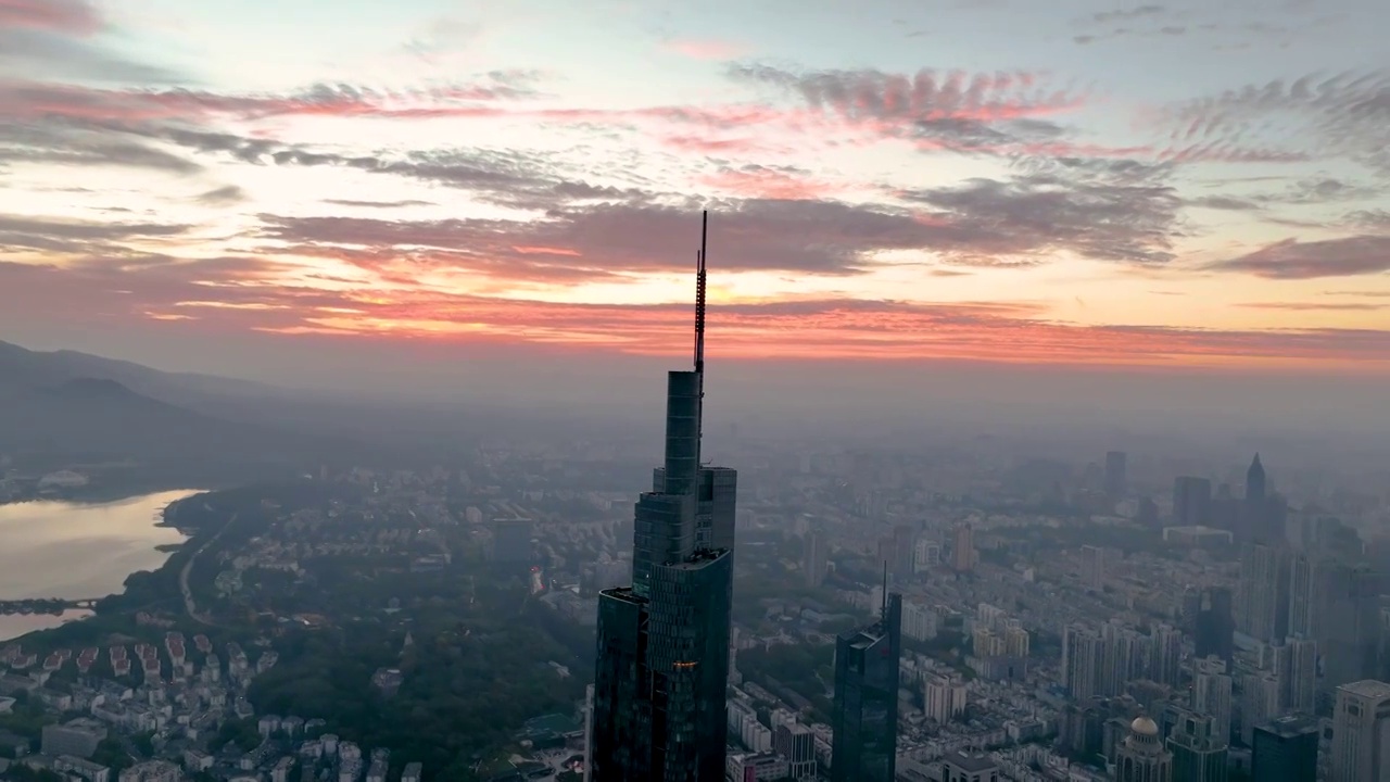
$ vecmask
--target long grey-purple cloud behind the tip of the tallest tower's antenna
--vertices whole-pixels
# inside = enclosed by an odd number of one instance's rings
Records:
[[[951,225],[919,220],[910,210],[853,206],[833,200],[744,199],[708,205],[720,232],[710,266],[727,270],[785,270],[803,274],[856,274],[877,266],[885,250],[948,252],[981,241]],[[382,253],[430,248],[456,253],[460,263],[505,274],[537,263],[516,248],[556,248],[546,262],[556,273],[588,274],[685,271],[691,267],[691,213],[696,205],[598,203],[557,209],[534,221],[386,221],[353,217],[263,217],[263,238],[289,246],[374,248]],[[689,250],[689,252],[687,252]]]

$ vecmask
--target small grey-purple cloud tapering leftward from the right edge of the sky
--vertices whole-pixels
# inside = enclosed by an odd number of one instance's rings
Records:
[[[1284,239],[1255,252],[1208,264],[1269,280],[1357,277],[1390,271],[1390,235],[1358,235],[1300,242]]]

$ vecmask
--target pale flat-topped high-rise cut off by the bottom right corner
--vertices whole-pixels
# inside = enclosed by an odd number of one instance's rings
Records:
[[[1365,679],[1337,687],[1327,782],[1379,782],[1390,774],[1390,685]]]

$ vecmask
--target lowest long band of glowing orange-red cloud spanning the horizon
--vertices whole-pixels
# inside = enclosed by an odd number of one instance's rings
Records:
[[[673,355],[688,349],[691,310],[673,305],[575,305],[457,295],[379,285],[336,289],[288,284],[263,259],[152,264],[129,271],[0,264],[19,314],[63,303],[86,324],[138,316],[170,327],[282,335],[409,337],[498,345]],[[113,288],[129,295],[113,296]],[[170,320],[171,317],[178,320]],[[1037,305],[805,299],[716,303],[709,310],[717,358],[922,359],[1180,366],[1390,360],[1390,333],[1298,328],[1268,331],[1086,327],[1056,323]]]

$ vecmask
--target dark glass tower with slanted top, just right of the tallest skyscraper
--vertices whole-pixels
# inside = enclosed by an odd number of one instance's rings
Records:
[[[897,778],[901,651],[902,596],[897,593],[888,594],[877,622],[835,639],[831,782]]]

